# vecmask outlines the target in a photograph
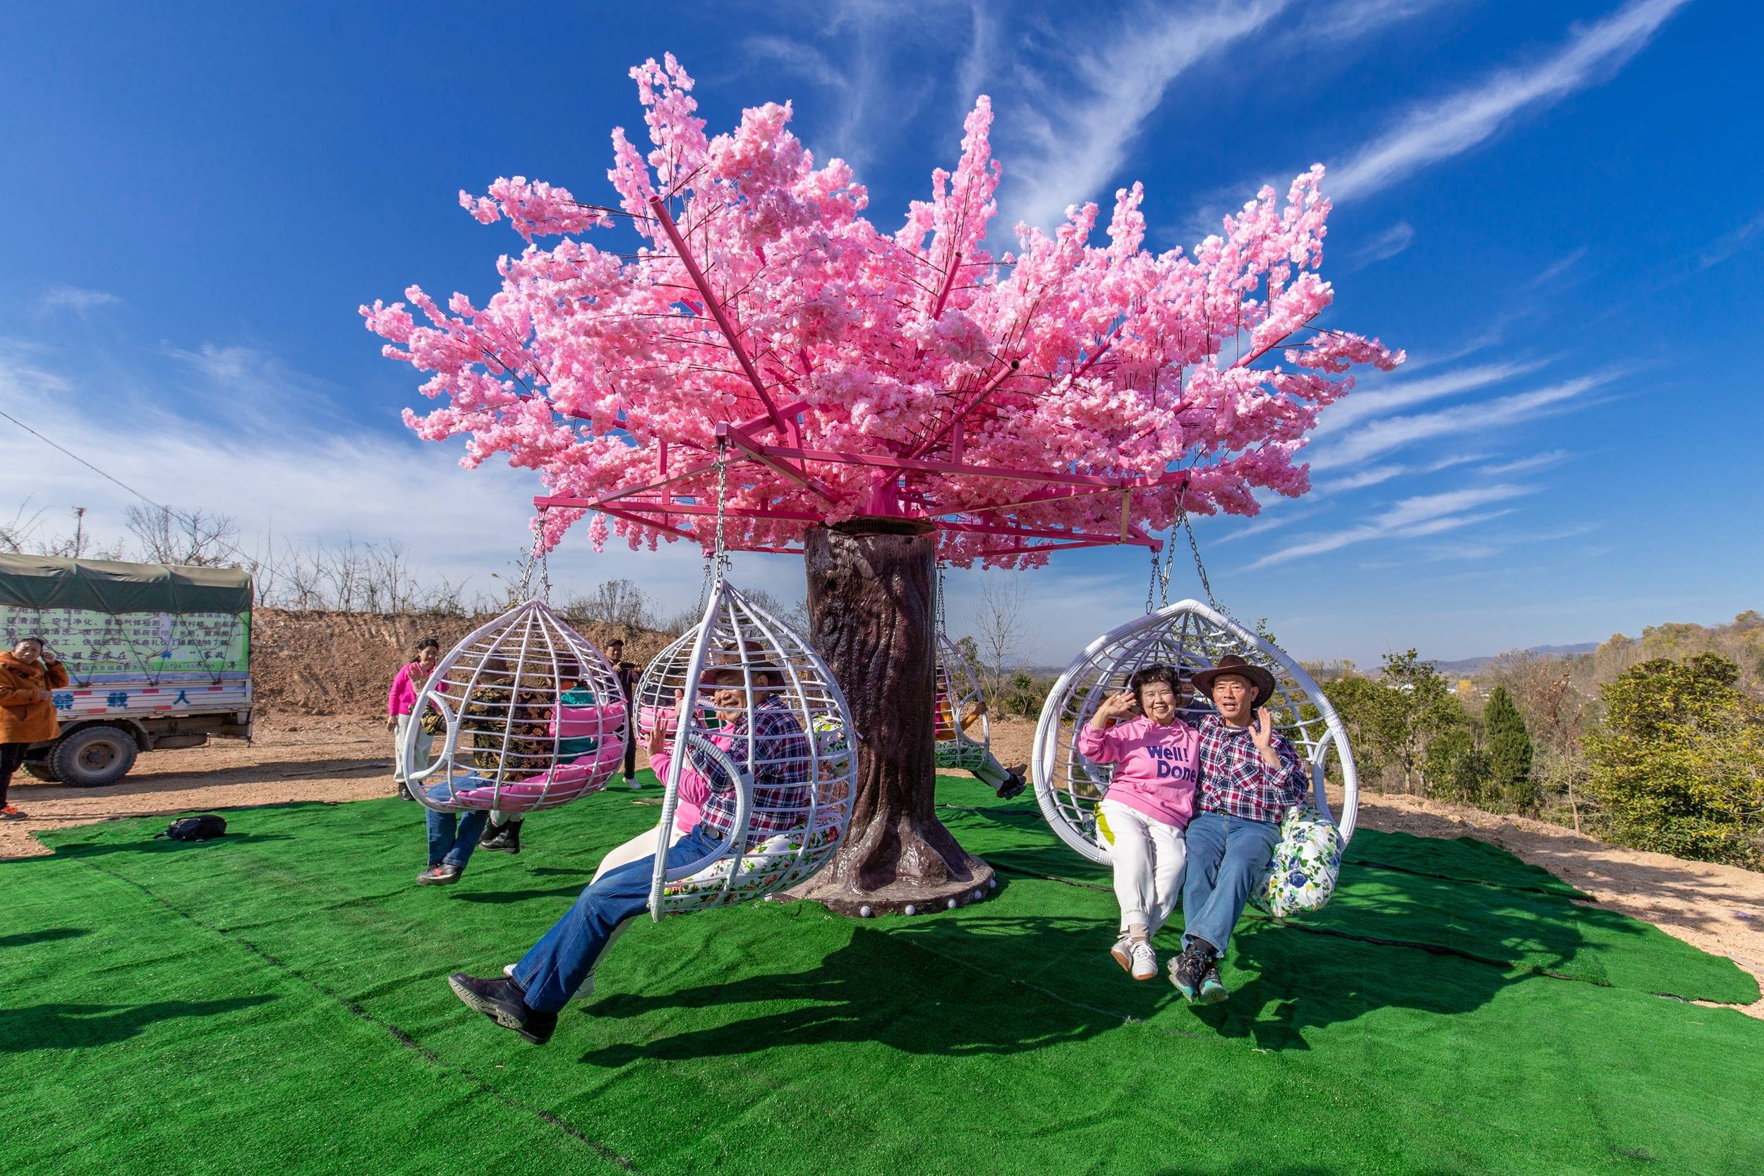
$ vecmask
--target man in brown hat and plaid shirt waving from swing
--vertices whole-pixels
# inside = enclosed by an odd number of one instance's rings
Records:
[[[1182,889],[1182,956],[1170,982],[1187,998],[1217,1003],[1231,927],[1268,869],[1281,818],[1300,804],[1311,776],[1265,705],[1274,675],[1237,654],[1194,675],[1217,714],[1201,719],[1200,815],[1189,822],[1189,876]]]

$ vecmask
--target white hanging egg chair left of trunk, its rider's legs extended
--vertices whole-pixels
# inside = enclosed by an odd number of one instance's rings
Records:
[[[716,668],[743,672],[739,714],[709,703],[702,682]],[[677,695],[686,700],[683,725],[672,721]],[[762,705],[781,709],[787,719],[771,719],[773,735],[746,737]],[[646,739],[665,719],[674,748],[688,751],[669,762],[663,829],[674,823],[686,772],[716,769],[736,793],[734,830],[714,853],[674,869],[665,855],[656,857],[649,892],[656,920],[776,894],[831,860],[852,816],[852,716],[827,663],[790,626],[716,584],[697,628],[649,661],[637,684],[637,714]]]

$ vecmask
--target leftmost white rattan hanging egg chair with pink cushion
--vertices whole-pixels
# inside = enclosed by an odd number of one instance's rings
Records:
[[[407,774],[423,806],[529,813],[598,792],[624,762],[624,695],[612,666],[543,601],[469,633],[416,693],[445,723],[434,762]],[[415,762],[423,732],[409,725]]]

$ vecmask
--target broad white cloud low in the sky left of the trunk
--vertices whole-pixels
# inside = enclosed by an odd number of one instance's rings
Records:
[[[213,361],[226,376],[228,361]],[[16,349],[0,351],[0,409],[123,483],[0,420],[0,444],[12,451],[16,434],[19,451],[34,455],[30,462],[0,462],[0,501],[30,499],[51,513],[78,502],[88,508],[88,534],[116,540],[125,536],[127,510],[143,504],[132,488],[173,510],[231,515],[245,552],[272,541],[277,550],[284,541],[397,541],[420,577],[467,580],[473,591],[489,591],[490,573],[506,575],[531,541],[527,518],[540,488],[531,471],[503,464],[466,471],[459,446],[420,443],[390,428],[314,428],[303,413],[273,406],[259,428],[247,430],[187,400],[182,386],[161,391],[120,409],[102,381],[51,370]],[[637,578],[662,612],[676,612],[697,599],[699,562],[697,548],[679,543],[644,552],[635,568],[621,547],[594,555],[577,538],[552,557],[550,569],[561,587]],[[743,562],[750,564],[744,582],[785,599],[803,594],[801,564],[790,575],[789,561]]]

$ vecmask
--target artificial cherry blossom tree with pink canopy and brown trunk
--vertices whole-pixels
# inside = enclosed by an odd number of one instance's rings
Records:
[[[1034,566],[1136,543],[1182,511],[1254,515],[1351,368],[1401,353],[1323,330],[1323,169],[1263,189],[1196,250],[1148,252],[1141,189],[1051,234],[991,231],[991,104],[893,233],[790,106],[707,138],[672,56],[632,71],[649,150],[612,132],[616,201],[515,176],[460,192],[526,247],[482,307],[418,287],[363,307],[441,400],[406,423],[462,464],[531,467],[540,548],[713,543],[801,552],[811,638],[852,703],[854,829],[811,896],[836,910],[965,901],[990,880],[931,809],[933,568]],[[540,245],[545,238],[547,245]],[[600,242],[600,243],[596,243]],[[415,310],[415,314],[413,314]],[[422,323],[418,323],[418,316]]]

